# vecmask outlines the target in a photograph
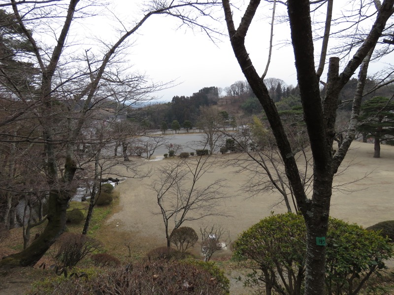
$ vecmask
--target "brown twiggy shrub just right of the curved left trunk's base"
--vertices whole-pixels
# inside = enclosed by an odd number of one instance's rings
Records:
[[[100,248],[100,243],[86,235],[64,233],[55,243],[54,258],[61,267],[76,266],[85,256]]]

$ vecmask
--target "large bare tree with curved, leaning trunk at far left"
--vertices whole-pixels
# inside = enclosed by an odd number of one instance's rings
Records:
[[[37,128],[34,131],[38,135],[30,132],[21,138],[8,133],[8,130],[4,133],[13,136],[14,142],[34,142],[43,147],[45,165],[42,174],[50,189],[45,230],[25,250],[1,260],[0,266],[33,266],[63,233],[66,208],[75,184],[74,176],[81,169],[74,151],[83,144],[83,129],[90,116],[98,109],[102,114],[107,114],[108,110],[117,112],[125,100],[135,100],[135,97],[140,98],[141,93],[147,93],[147,88],[142,86],[147,83],[139,79],[140,76],[132,73],[128,77],[119,75],[121,68],[117,66],[120,64],[117,57],[121,57],[125,42],[153,15],[174,16],[180,18],[183,24],[193,26],[197,25],[198,17],[209,14],[213,4],[215,1],[203,5],[198,1],[149,1],[144,6],[141,19],[131,28],[120,24],[121,34],[114,43],[99,43],[101,48],[98,45],[83,54],[73,55],[68,51],[73,38],[68,36],[76,27],[71,25],[76,18],[83,20],[87,17],[92,6],[84,6],[80,0],[37,1],[33,6],[30,2],[15,0],[1,3],[12,14],[21,38],[31,49],[29,53],[21,52],[21,59],[29,61],[31,71],[37,74],[32,91],[22,91],[15,83],[2,84],[9,93],[7,98],[12,98],[8,102],[17,99],[22,106],[8,111],[0,126],[29,117],[36,120]],[[203,25],[200,28],[206,33],[213,31]],[[54,45],[43,44],[39,40],[40,34],[33,35],[32,29],[53,32]],[[7,75],[5,72],[2,74]],[[9,81],[12,82],[12,79]],[[114,86],[124,86],[120,99],[112,95]],[[150,86],[151,91],[160,88],[161,85]],[[1,99],[4,97],[1,96]],[[60,168],[62,166],[64,168]]]

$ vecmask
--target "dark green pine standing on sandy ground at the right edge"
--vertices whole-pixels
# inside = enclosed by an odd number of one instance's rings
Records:
[[[374,158],[380,157],[380,143],[394,144],[394,102],[387,97],[377,96],[361,106],[358,130],[374,138]]]

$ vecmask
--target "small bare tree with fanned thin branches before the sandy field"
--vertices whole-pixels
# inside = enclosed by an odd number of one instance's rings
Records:
[[[157,196],[157,204],[163,216],[167,247],[170,246],[170,234],[185,221],[194,221],[207,216],[224,216],[219,210],[221,202],[230,196],[222,192],[225,185],[222,179],[207,186],[200,185],[200,179],[215,162],[207,156],[180,159],[157,169],[159,181],[150,187]],[[173,222],[173,226],[170,224]]]

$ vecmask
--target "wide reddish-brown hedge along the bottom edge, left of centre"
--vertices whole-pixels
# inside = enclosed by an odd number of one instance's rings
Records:
[[[129,265],[126,269],[100,269],[83,279],[78,276],[52,279],[42,283],[30,294],[229,295],[229,289],[229,280],[213,264],[146,261]]]

